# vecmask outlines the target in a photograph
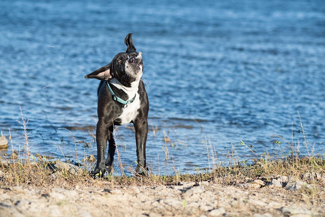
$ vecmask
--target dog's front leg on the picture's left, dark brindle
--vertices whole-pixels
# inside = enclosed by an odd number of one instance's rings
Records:
[[[90,174],[96,176],[100,174],[103,176],[105,173],[105,152],[107,146],[107,140],[109,137],[108,130],[110,126],[99,120],[96,126],[96,144],[97,144],[97,162],[94,171]]]

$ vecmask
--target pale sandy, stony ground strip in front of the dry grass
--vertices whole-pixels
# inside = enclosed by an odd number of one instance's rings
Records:
[[[207,181],[107,189],[12,187],[0,189],[0,216],[325,216],[325,203],[310,201],[301,190]]]

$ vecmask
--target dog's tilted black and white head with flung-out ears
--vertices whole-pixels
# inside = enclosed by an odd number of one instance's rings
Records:
[[[126,51],[118,53],[110,64],[93,71],[85,78],[95,78],[108,81],[116,78],[124,86],[130,87],[132,82],[139,81],[143,73],[142,53],[136,51],[133,44],[132,33],[124,40]]]

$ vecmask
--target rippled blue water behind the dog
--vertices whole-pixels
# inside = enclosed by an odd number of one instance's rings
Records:
[[[309,151],[324,154],[320,0],[18,0],[0,6],[0,130],[8,136],[10,129],[17,151],[24,146],[21,107],[32,153],[76,161],[76,146],[79,161],[96,154],[99,82],[84,75],[125,51],[123,40],[134,33],[144,56],[147,162],[154,173],[194,173],[215,157],[227,162],[232,150],[239,160],[256,158],[240,140],[257,156],[288,153],[289,145],[272,135],[294,140],[307,154],[297,111]],[[122,164],[135,168],[132,125],[118,127],[116,139]]]

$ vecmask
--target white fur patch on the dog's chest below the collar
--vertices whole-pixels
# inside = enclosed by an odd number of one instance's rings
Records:
[[[122,114],[118,117],[120,125],[130,123],[137,117],[140,108],[139,94],[136,95],[136,99],[133,103],[128,104],[122,109]]]

